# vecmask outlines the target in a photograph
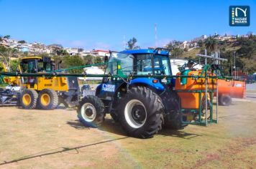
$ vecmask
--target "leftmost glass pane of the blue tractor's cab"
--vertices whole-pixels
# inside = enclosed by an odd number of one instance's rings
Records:
[[[106,74],[129,75],[133,69],[132,54],[111,53]]]

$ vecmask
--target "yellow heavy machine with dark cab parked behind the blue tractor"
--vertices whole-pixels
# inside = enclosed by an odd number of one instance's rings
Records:
[[[50,57],[24,57],[19,69],[22,73],[53,72],[55,62]],[[60,103],[68,107],[76,105],[79,98],[77,77],[22,77],[21,87],[24,109],[52,110]]]

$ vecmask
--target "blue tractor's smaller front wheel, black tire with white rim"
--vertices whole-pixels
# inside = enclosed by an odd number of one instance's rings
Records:
[[[104,121],[105,106],[96,96],[83,97],[78,105],[78,119],[86,127],[98,127]]]

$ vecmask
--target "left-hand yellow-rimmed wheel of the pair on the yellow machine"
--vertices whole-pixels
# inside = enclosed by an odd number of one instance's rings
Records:
[[[38,94],[35,90],[23,90],[20,98],[20,105],[23,109],[31,110],[37,107]]]

